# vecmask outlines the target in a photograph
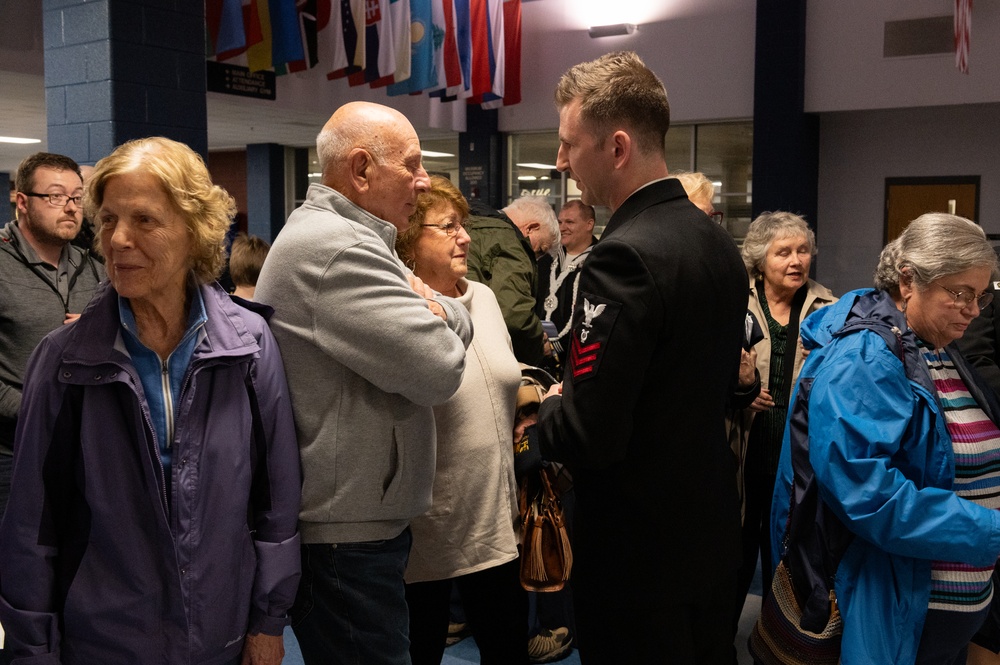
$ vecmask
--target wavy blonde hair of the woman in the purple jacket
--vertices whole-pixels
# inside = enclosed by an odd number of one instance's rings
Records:
[[[148,173],[160,182],[191,234],[191,268],[196,278],[205,284],[218,277],[226,263],[224,241],[236,216],[236,202],[212,184],[201,155],[162,136],[123,143],[97,162],[87,179],[83,208],[88,219],[97,219],[108,181],[126,173]]]

